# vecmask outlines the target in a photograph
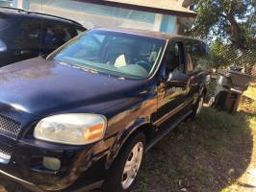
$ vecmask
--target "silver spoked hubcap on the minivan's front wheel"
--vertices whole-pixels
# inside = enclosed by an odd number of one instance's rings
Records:
[[[141,167],[142,156],[143,144],[139,142],[132,149],[124,165],[121,181],[123,189],[129,188],[136,179],[136,176]]]

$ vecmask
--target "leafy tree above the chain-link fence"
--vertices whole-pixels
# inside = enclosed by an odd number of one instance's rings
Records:
[[[218,37],[239,49],[255,48],[256,0],[193,0],[195,18],[189,34]]]

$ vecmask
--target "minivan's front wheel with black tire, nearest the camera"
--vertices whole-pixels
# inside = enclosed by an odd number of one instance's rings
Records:
[[[134,152],[138,152],[138,162],[137,164],[133,165],[134,170],[137,171],[137,173],[134,173],[136,171],[132,171],[132,169],[129,169],[129,173],[133,175],[133,177],[129,180],[128,174],[124,174],[124,168],[128,164],[132,162],[134,159]],[[120,154],[116,157],[112,168],[110,169],[110,172],[107,176],[107,180],[105,181],[105,184],[103,186],[104,192],[129,192],[134,184],[136,183],[136,180],[138,179],[138,173],[140,172],[141,163],[143,161],[145,152],[145,136],[143,133],[139,132],[136,135],[134,135],[124,146],[122,147]],[[128,163],[129,161],[129,163]],[[134,164],[134,163],[133,163]],[[137,166],[136,166],[137,165]],[[126,166],[126,167],[127,167]]]

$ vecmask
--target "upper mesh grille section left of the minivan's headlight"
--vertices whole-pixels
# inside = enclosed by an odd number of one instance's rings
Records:
[[[20,132],[20,128],[20,123],[0,114],[0,134],[15,139]]]

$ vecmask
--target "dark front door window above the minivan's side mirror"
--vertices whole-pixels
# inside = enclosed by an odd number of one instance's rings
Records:
[[[173,71],[185,73],[184,49],[182,42],[170,45],[166,60],[166,77]]]

